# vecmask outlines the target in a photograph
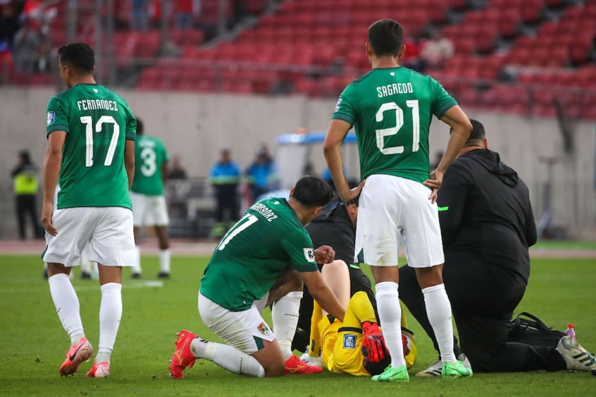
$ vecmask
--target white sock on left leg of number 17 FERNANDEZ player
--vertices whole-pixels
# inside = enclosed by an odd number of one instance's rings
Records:
[[[70,344],[76,345],[85,336],[80,320],[79,297],[76,295],[69,276],[64,273],[49,277],[49,293],[56,307],[58,318],[70,336]]]

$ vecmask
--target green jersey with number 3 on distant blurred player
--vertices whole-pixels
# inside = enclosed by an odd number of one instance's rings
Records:
[[[148,196],[163,195],[162,167],[167,162],[166,146],[153,136],[138,136],[135,142],[135,177],[132,191]]]

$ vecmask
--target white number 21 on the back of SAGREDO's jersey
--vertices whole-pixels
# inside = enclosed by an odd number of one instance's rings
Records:
[[[420,111],[418,110],[418,99],[406,101],[406,106],[412,109],[412,152],[417,152],[420,148]],[[377,123],[383,121],[384,112],[394,111],[395,112],[395,127],[384,128],[376,130],[377,132],[377,148],[383,154],[400,154],[403,153],[403,146],[390,146],[385,147],[385,137],[397,135],[401,127],[403,126],[403,109],[398,106],[395,102],[385,102],[378,109],[375,119]]]

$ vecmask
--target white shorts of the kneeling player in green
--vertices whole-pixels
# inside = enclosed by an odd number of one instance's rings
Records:
[[[262,349],[263,340],[272,342],[275,339],[273,330],[261,317],[256,302],[249,310],[229,311],[199,293],[198,314],[215,335],[246,354]]]

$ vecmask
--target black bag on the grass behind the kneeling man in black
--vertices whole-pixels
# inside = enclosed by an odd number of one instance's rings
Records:
[[[531,346],[557,346],[564,332],[547,327],[538,317],[521,312],[511,321],[511,331],[507,342],[519,342]]]

